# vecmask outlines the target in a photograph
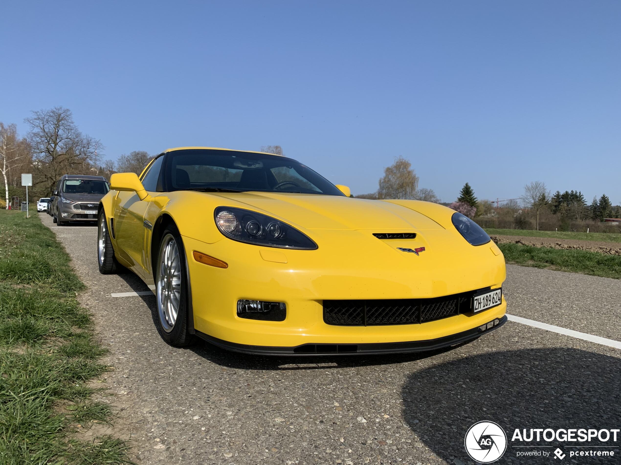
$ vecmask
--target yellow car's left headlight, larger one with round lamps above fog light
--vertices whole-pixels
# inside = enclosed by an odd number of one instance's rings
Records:
[[[317,244],[306,234],[256,211],[219,206],[214,211],[214,218],[220,232],[234,241],[284,249],[317,249]]]

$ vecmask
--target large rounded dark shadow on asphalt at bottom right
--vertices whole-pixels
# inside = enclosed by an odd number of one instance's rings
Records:
[[[557,447],[569,461],[570,451],[589,450],[569,446],[610,446],[612,436],[607,443],[512,443],[515,428],[619,428],[620,373],[621,359],[573,348],[469,356],[410,374],[402,388],[404,419],[420,440],[448,463],[454,458],[472,462],[464,447],[465,433],[483,420],[504,428],[508,436],[502,459],[505,463],[550,463]],[[618,439],[617,446],[621,435]],[[514,447],[518,445],[551,447]],[[577,459],[580,463],[613,463],[621,453],[619,447],[613,450],[615,458]],[[552,455],[517,457],[518,451],[546,451]]]

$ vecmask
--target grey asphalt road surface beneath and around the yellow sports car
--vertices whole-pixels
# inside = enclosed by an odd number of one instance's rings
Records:
[[[515,428],[621,425],[621,350],[517,322],[425,355],[294,359],[170,347],[153,325],[153,296],[111,296],[148,289],[134,275],[99,274],[96,228],[40,216],[88,286],[81,302],[111,351],[104,400],[119,418],[107,432],[131,437],[140,464],[461,465],[473,463],[464,435],[480,420],[499,423],[509,440]],[[504,291],[510,314],[621,340],[620,280],[509,266]],[[499,463],[555,462],[519,451],[510,442]]]

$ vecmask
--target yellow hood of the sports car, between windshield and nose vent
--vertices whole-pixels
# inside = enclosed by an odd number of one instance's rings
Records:
[[[223,206],[260,211],[306,229],[444,229],[422,213],[381,200],[276,192],[216,195],[222,197]]]

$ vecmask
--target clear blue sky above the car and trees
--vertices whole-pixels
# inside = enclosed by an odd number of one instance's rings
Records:
[[[62,105],[105,157],[280,144],[353,193],[396,156],[452,201],[621,203],[621,2],[7,2],[0,121]]]

